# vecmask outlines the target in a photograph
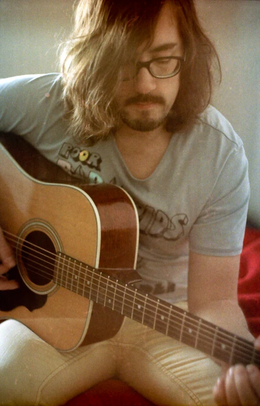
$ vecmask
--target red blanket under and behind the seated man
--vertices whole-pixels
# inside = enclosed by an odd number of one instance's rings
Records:
[[[246,228],[241,254],[238,299],[254,336],[260,334],[260,230]],[[153,406],[123,382],[109,380],[94,386],[64,406]]]

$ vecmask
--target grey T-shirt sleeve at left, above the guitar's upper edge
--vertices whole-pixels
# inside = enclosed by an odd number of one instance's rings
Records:
[[[37,144],[64,114],[60,76],[55,73],[0,79],[0,131]]]

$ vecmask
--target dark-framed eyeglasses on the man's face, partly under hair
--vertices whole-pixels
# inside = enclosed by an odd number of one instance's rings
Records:
[[[147,62],[128,62],[121,66],[120,77],[122,81],[134,79],[141,68],[146,68],[153,77],[166,79],[177,75],[183,62],[185,57],[182,56],[163,56]]]

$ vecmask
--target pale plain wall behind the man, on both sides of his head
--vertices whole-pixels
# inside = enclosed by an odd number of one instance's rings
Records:
[[[70,32],[73,0],[0,0],[0,77],[57,71],[57,46]],[[260,227],[260,1],[197,0],[219,52],[223,80],[213,104],[244,141],[249,218]]]

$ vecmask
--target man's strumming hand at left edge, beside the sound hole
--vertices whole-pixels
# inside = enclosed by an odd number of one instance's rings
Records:
[[[16,289],[19,284],[16,280],[8,280],[4,273],[15,266],[15,259],[11,248],[7,244],[3,231],[0,228],[0,291]]]

